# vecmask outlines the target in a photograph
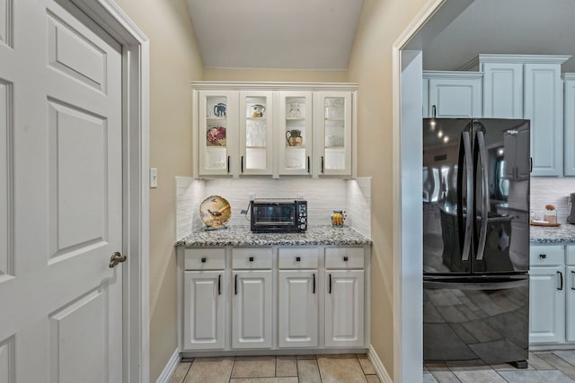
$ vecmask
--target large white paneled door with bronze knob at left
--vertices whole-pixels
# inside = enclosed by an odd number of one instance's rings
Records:
[[[66,1],[0,0],[2,382],[122,380],[120,50]]]

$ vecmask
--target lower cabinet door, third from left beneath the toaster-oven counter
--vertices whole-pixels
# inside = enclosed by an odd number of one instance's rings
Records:
[[[318,345],[317,270],[279,270],[279,347]]]

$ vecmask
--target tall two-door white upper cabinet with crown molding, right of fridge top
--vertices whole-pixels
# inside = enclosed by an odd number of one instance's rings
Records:
[[[466,69],[483,73],[483,117],[531,121],[531,176],[563,175],[563,85],[569,56],[479,55]]]

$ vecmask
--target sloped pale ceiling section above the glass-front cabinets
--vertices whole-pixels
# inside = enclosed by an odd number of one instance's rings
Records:
[[[204,65],[346,70],[363,0],[187,0]]]

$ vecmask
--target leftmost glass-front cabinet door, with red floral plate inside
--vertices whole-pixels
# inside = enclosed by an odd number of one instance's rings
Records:
[[[239,163],[238,92],[199,91],[199,175],[234,174]]]

